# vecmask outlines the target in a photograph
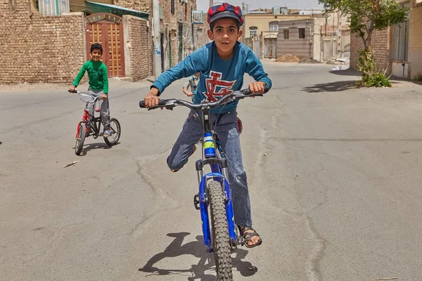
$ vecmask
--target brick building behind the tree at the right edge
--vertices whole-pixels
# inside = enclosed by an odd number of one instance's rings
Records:
[[[414,79],[422,74],[422,0],[398,0],[411,11],[406,22],[373,32],[371,47],[380,70],[397,77]],[[360,37],[352,34],[350,65],[356,68],[358,51],[364,48]]]

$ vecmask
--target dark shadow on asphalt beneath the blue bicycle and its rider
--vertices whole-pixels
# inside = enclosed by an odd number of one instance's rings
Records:
[[[151,275],[174,275],[174,274],[189,274],[187,280],[215,280],[215,260],[214,254],[208,253],[206,247],[203,244],[203,236],[196,236],[196,241],[188,242],[183,244],[184,237],[190,235],[191,233],[168,233],[167,236],[174,237],[174,240],[170,243],[167,248],[161,253],[153,256],[146,263],[143,268],[139,268],[139,271],[145,273],[151,273]],[[248,251],[244,249],[236,249],[234,254],[231,255],[231,266],[234,270],[237,270],[241,273],[242,276],[248,277],[257,273],[257,268],[252,266],[252,263],[249,261],[242,261],[245,259],[245,256],[248,254]],[[176,258],[183,255],[192,255],[200,259],[198,264],[191,265],[191,268],[183,269],[161,269],[154,267],[155,263],[158,263],[162,259],[166,258]]]

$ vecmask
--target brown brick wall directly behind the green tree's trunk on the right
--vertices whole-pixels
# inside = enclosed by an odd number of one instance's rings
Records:
[[[390,48],[390,28],[385,30],[376,30],[372,34],[371,48],[375,55],[375,61],[378,69],[390,72],[391,48]],[[357,68],[357,58],[359,50],[364,49],[364,42],[356,34],[350,34],[350,67]]]

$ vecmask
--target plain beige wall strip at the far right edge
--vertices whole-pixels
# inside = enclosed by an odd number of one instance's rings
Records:
[[[422,3],[412,1],[409,20],[409,56],[410,78],[422,74]]]

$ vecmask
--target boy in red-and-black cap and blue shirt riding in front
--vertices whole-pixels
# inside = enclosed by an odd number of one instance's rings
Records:
[[[264,93],[264,86],[271,88],[271,79],[264,72],[262,63],[248,46],[238,42],[242,36],[241,8],[224,3],[208,11],[208,37],[213,40],[188,55],[181,63],[163,72],[153,83],[144,98],[146,107],[158,105],[160,94],[173,81],[200,73],[193,103],[216,101],[223,96],[241,90],[243,75],[250,74],[255,82],[249,84],[251,93]],[[207,58],[207,59],[204,59]],[[238,131],[236,107],[238,100],[210,110],[210,124],[222,143],[229,162],[229,183],[233,196],[234,219],[246,247],[262,243],[260,235],[252,228],[248,183],[243,170],[241,143]],[[178,171],[195,151],[195,144],[203,137],[203,127],[198,113],[192,110],[167,158],[172,171]]]

